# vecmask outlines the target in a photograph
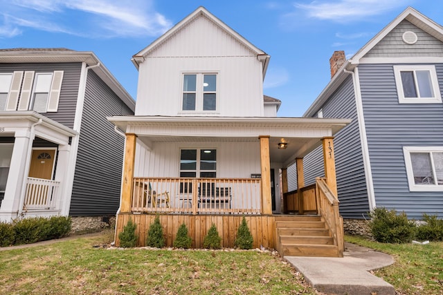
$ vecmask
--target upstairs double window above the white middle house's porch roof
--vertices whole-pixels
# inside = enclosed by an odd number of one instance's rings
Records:
[[[183,75],[183,111],[217,111],[217,74]]]

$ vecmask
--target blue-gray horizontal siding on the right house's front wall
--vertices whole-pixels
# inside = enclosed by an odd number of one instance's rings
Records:
[[[443,65],[436,69],[443,91]],[[392,64],[361,65],[359,73],[377,207],[443,217],[443,192],[409,191],[403,153],[403,146],[443,146],[443,104],[399,104]]]

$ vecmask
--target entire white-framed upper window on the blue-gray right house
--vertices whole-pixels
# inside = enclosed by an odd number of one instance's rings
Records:
[[[394,72],[401,104],[442,102],[435,66],[394,66]]]

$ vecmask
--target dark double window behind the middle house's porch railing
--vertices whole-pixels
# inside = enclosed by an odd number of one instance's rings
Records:
[[[181,149],[181,178],[215,178],[217,176],[217,150]],[[181,187],[181,193],[190,193],[190,187]]]

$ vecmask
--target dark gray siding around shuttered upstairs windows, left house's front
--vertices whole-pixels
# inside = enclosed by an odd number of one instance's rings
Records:
[[[35,73],[49,73],[54,70],[63,70],[63,82],[58,110],[55,113],[42,113],[42,115],[64,126],[73,128],[82,64],[0,64],[0,73],[12,73],[15,70],[34,70]]]

